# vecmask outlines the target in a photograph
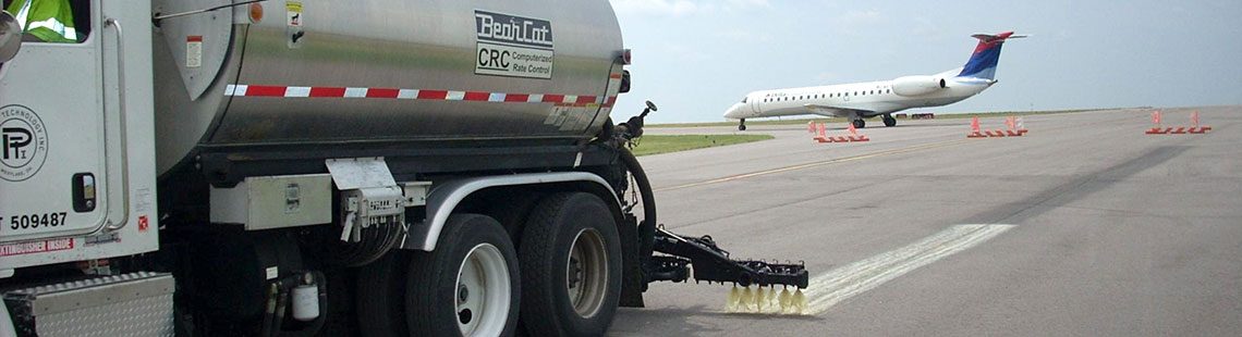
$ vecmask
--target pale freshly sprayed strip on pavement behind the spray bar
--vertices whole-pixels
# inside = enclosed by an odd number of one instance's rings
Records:
[[[806,313],[825,312],[832,306],[850,300],[850,297],[876,289],[920,266],[975,247],[1010,228],[1013,225],[954,225],[910,245],[833,269],[811,279],[806,291],[809,302]]]

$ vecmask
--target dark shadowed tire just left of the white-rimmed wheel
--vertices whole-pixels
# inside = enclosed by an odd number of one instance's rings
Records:
[[[394,250],[364,265],[358,271],[358,330],[363,337],[410,336],[405,322],[405,301],[392,294],[405,292],[407,252]]]

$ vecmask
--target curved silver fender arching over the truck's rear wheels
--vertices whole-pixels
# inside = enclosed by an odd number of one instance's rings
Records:
[[[586,182],[595,183],[605,188],[611,196],[612,207],[619,209],[621,202],[616,198],[616,191],[604,181],[602,177],[587,172],[546,172],[546,173],[519,173],[509,176],[484,176],[455,180],[436,183],[427,196],[427,216],[417,224],[412,224],[401,242],[401,249],[417,249],[432,252],[440,239],[440,232],[462,199],[471,193],[484,188],[518,185],[543,185],[559,182]]]

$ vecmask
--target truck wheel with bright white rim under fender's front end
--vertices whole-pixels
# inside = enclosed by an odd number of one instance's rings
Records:
[[[410,332],[510,336],[518,323],[517,252],[496,219],[453,214],[435,252],[415,252],[405,292]]]

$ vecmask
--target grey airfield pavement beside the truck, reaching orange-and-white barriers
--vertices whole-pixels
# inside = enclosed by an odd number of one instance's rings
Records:
[[[805,260],[814,313],[728,313],[729,286],[660,282],[610,335],[1237,336],[1242,107],[1163,110],[1213,130],[1145,135],[1149,109],[1025,116],[1004,139],[966,139],[969,119],[872,120],[854,144],[753,125],[776,139],[640,157],[661,223]]]

